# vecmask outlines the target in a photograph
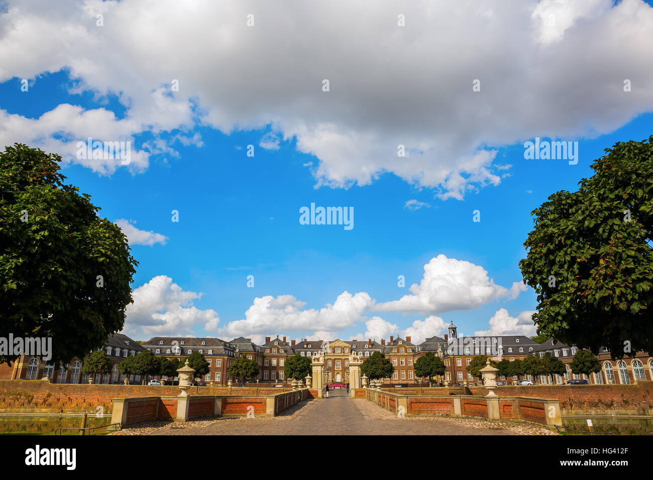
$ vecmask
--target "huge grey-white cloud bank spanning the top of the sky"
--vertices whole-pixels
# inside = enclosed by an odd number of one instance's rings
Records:
[[[0,81],[67,69],[76,91],[101,101],[116,95],[126,111],[116,118],[61,104],[26,118],[0,110],[0,144],[35,144],[103,173],[119,163],[76,159],[74,140],[151,133],[163,144],[133,152],[127,168],[140,171],[152,153],[170,153],[167,132],[199,144],[198,125],[227,134],[272,129],[315,155],[316,185],[365,185],[391,172],[441,199],[462,199],[501,182],[493,165],[500,146],[597,136],[653,109],[653,89],[634,87],[653,84],[641,61],[653,44],[653,8],[641,0],[481,8],[422,0],[402,5],[406,27],[397,26],[392,0],[6,4]],[[250,13],[255,27],[246,26]],[[406,157],[397,155],[400,144]]]

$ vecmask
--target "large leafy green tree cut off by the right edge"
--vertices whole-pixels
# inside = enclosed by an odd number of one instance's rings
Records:
[[[579,191],[532,212],[519,265],[537,293],[539,334],[613,359],[653,354],[653,136],[618,142]]]

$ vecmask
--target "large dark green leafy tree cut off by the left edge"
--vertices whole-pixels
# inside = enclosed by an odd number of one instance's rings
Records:
[[[59,161],[23,144],[0,153],[0,336],[52,337],[51,362],[67,364],[122,329],[137,263]]]

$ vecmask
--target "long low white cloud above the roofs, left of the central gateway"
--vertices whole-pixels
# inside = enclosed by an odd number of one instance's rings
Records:
[[[245,318],[229,322],[219,330],[223,336],[270,334],[272,332],[333,332],[351,327],[362,319],[362,313],[372,304],[372,298],[365,292],[345,291],[338,295],[333,304],[316,310],[304,310],[306,302],[293,295],[266,295],[254,299],[247,309]]]

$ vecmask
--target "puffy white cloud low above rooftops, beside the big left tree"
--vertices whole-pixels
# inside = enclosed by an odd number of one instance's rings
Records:
[[[193,300],[202,294],[183,291],[170,277],[154,277],[135,289],[132,296],[134,303],[127,306],[123,329],[129,336],[193,335],[193,328],[199,325],[208,332],[217,330],[217,312],[193,306]]]

